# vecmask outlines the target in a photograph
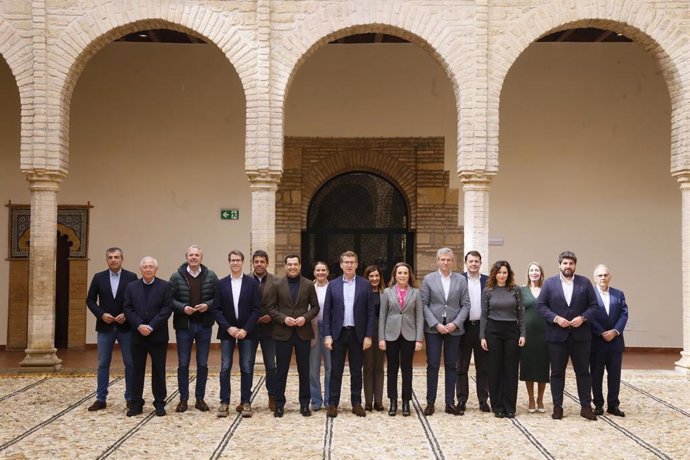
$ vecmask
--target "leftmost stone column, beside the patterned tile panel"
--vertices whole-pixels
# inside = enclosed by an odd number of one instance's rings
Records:
[[[29,314],[24,371],[57,371],[62,360],[55,348],[55,246],[57,194],[62,175],[27,174],[31,191],[29,243]]]

